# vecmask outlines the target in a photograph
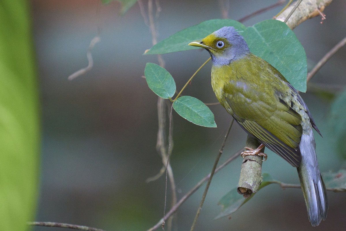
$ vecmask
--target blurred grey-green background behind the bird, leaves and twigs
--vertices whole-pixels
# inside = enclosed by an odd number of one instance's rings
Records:
[[[242,18],[266,1],[229,1],[231,19]],[[147,12],[147,1],[142,1]],[[160,1],[155,19],[158,41],[201,21],[221,18],[220,1]],[[272,18],[283,6],[244,22],[249,26]],[[42,156],[38,210],[35,220],[94,226],[105,230],[147,230],[163,215],[165,179],[145,183],[162,167],[157,154],[157,96],[144,75],[154,55],[142,55],[152,37],[138,4],[124,16],[121,5],[96,0],[33,0],[34,42],[38,61],[42,110]],[[346,2],[334,1],[325,9],[327,19],[307,20],[294,32],[314,66],[346,31]],[[68,81],[87,65],[86,50],[100,31],[101,42],[92,54],[93,69]],[[163,55],[166,69],[180,89],[208,59],[206,51],[191,50]],[[311,83],[346,83],[346,48],[342,48],[313,77]],[[208,63],[184,94],[205,103],[216,102],[210,85]],[[309,92],[302,94],[324,138],[315,134],[322,172],[336,171],[345,162],[336,154],[328,128],[330,100]],[[173,114],[172,168],[180,198],[206,176],[217,156],[230,116],[220,105],[210,106],[218,128],[193,125]],[[245,144],[246,133],[234,124],[221,162]],[[299,183],[297,171],[269,151],[263,172],[285,183]],[[220,171],[211,183],[196,230],[345,230],[346,194],[328,192],[327,220],[313,228],[299,189],[270,185],[240,208],[230,219],[213,220],[220,212],[219,199],[236,187],[242,159]],[[176,213],[174,230],[188,230],[204,187]],[[170,193],[169,193],[170,196]],[[170,198],[170,197],[169,197]],[[170,202],[168,201],[169,205]],[[248,222],[248,217],[254,222]],[[35,227],[34,230],[60,230]]]

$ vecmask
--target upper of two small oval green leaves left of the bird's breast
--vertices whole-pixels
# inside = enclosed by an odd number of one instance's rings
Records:
[[[175,93],[175,82],[166,69],[155,63],[147,63],[144,70],[145,79],[149,88],[161,98],[169,99]]]

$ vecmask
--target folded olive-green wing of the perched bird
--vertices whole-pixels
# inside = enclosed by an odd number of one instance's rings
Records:
[[[229,84],[226,89],[232,90],[225,92],[223,103],[238,124],[292,166],[298,167],[302,118],[286,103],[289,97],[254,90],[249,84],[244,87],[239,81]]]

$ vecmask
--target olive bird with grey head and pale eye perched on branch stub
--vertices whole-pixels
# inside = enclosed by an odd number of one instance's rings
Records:
[[[216,98],[261,143],[243,154],[263,156],[266,146],[297,168],[309,221],[319,225],[327,217],[328,199],[312,128],[321,133],[298,91],[271,64],[252,54],[234,27],[222,27],[189,45],[209,52]]]

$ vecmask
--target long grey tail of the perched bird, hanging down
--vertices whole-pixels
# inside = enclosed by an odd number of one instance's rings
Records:
[[[321,177],[318,163],[315,165],[308,163],[307,165],[303,158],[297,170],[309,220],[312,226],[317,226],[321,220],[326,219],[328,211],[326,186]]]

